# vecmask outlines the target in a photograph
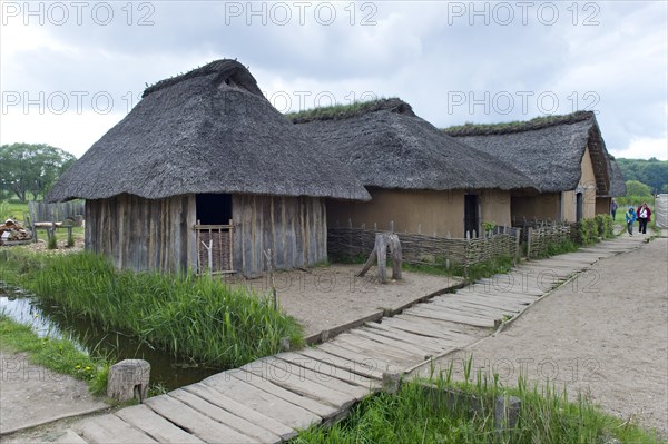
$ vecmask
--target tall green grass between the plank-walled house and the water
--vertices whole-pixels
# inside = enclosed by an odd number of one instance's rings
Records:
[[[73,316],[120,329],[193,363],[235,367],[301,346],[298,323],[271,298],[208,276],[117,270],[90,253],[46,256],[6,251],[0,279],[55,300]]]

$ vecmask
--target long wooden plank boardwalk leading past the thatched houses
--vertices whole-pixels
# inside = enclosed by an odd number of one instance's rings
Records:
[[[622,237],[524,263],[315,348],[262,358],[141,405],[85,418],[58,442],[281,443],[344,416],[353,403],[381,389],[385,373],[404,373],[489,335],[576,273],[640,241]],[[581,280],[578,285],[587,285]]]

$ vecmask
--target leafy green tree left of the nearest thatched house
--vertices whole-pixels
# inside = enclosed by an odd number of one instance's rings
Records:
[[[58,177],[76,160],[75,156],[45,144],[0,146],[0,190],[14,194],[19,200],[45,195]]]

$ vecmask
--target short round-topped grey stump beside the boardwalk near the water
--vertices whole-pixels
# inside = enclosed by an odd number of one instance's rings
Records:
[[[144,359],[124,359],[109,368],[107,397],[118,402],[135,397],[141,403],[148,391],[150,364]]]

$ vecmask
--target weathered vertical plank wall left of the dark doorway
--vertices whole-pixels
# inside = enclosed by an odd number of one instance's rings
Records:
[[[120,195],[86,203],[86,249],[117,267],[184,272],[197,266],[195,195],[145,199]]]

